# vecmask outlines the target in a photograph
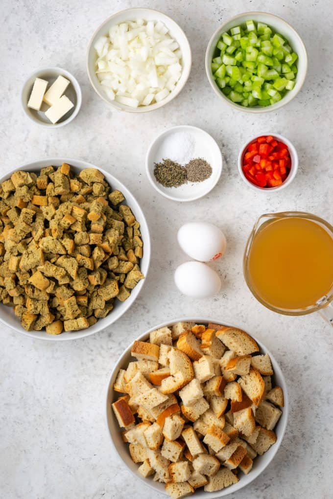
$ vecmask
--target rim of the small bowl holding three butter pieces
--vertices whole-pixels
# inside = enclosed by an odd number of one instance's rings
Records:
[[[34,118],[33,116],[31,116],[31,114],[26,109],[27,102],[25,102],[25,99],[23,100],[23,92],[24,92],[24,89],[27,85],[28,80],[30,78],[32,78],[33,76],[35,78],[40,78],[42,73],[47,72],[47,71],[54,71],[55,73],[59,73],[59,75],[61,75],[61,76],[67,76],[67,78],[70,80],[70,83],[72,84],[72,87],[74,88],[74,91],[76,94],[76,105],[75,105],[73,112],[71,113],[70,116],[68,116],[68,118],[66,120],[60,121],[60,123],[54,123],[54,124],[53,123],[44,123],[43,121],[39,120],[38,118]],[[20,97],[21,97],[21,105],[22,105],[22,108],[23,108],[25,115],[33,123],[36,123],[37,125],[40,125],[44,128],[60,128],[61,126],[68,125],[68,123],[73,121],[73,119],[77,116],[79,110],[81,109],[81,104],[82,104],[82,92],[81,92],[81,87],[79,85],[79,82],[77,81],[77,79],[75,78],[75,76],[72,73],[67,71],[67,69],[63,69],[62,67],[57,67],[57,66],[45,66],[45,67],[41,67],[39,69],[36,69],[35,71],[32,71],[32,73],[30,73],[28,75],[28,77],[24,80]]]

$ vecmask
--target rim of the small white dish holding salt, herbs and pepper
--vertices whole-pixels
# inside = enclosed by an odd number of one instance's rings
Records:
[[[184,128],[185,129],[187,128],[187,129],[190,129],[190,130],[199,130],[200,133],[205,134],[206,137],[209,137],[210,140],[213,140],[214,143],[216,144],[216,147],[217,147],[219,153],[220,153],[219,160],[221,159],[221,162],[219,161],[219,165],[216,167],[217,170],[218,170],[217,179],[209,186],[209,188],[205,192],[203,192],[202,194],[199,194],[197,196],[193,196],[192,198],[180,199],[180,198],[177,198],[175,196],[172,196],[171,194],[167,194],[167,193],[163,192],[158,187],[157,182],[154,180],[154,178],[151,175],[150,170],[149,170],[149,156],[150,156],[150,152],[151,152],[151,150],[152,150],[155,142],[157,142],[163,135],[169,133],[171,130],[184,129]],[[161,194],[162,196],[164,196],[167,199],[171,199],[171,201],[178,201],[179,203],[188,203],[188,202],[191,202],[191,201],[196,201],[197,199],[204,198],[208,193],[210,193],[214,189],[214,187],[219,182],[219,180],[221,178],[221,174],[222,174],[222,169],[223,169],[223,157],[222,157],[222,152],[221,152],[221,149],[220,149],[218,143],[216,142],[216,140],[214,139],[214,137],[212,137],[208,132],[206,132],[206,130],[203,130],[202,128],[199,128],[197,126],[192,126],[192,125],[176,125],[176,126],[172,126],[170,128],[167,128],[166,130],[163,130],[161,133],[159,133],[153,139],[153,141],[150,143],[150,145],[148,147],[148,150],[146,152],[146,174],[147,174],[149,182],[151,183],[151,185],[155,188],[155,190],[159,194]]]

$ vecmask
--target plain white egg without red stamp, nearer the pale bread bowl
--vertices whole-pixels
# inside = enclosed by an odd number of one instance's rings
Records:
[[[175,271],[175,283],[179,291],[192,298],[208,298],[221,289],[218,274],[205,263],[187,261]]]

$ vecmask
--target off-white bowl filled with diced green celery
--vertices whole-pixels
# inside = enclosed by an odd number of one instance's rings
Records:
[[[237,109],[274,111],[301,90],[308,69],[306,47],[284,19],[245,12],[222,24],[206,51],[215,93]]]

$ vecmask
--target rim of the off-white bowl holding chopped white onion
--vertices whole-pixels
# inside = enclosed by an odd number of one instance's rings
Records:
[[[189,58],[189,62],[187,65],[188,67],[185,67],[185,65],[183,65],[183,69],[182,69],[182,73],[181,73],[182,75],[183,75],[183,73],[185,75],[185,79],[184,79],[183,83],[179,86],[177,84],[175,89],[172,92],[170,92],[170,94],[165,99],[161,100],[160,102],[155,102],[154,104],[150,104],[149,106],[130,107],[130,106],[125,106],[125,104],[122,104],[121,105],[122,107],[118,108],[117,106],[114,105],[114,103],[111,100],[107,99],[107,97],[105,95],[103,95],[102,92],[99,91],[99,89],[97,88],[97,86],[93,82],[93,79],[92,79],[91,73],[90,73],[90,69],[89,69],[89,52],[90,52],[91,46],[93,44],[93,41],[94,41],[98,31],[114,17],[118,16],[119,14],[121,14],[123,12],[128,12],[130,10],[132,10],[133,12],[135,12],[137,10],[149,10],[150,12],[156,12],[157,14],[162,15],[163,17],[166,17],[171,22],[174,22],[184,35],[184,38],[185,38],[187,45],[188,45],[190,58]],[[178,40],[176,40],[176,41],[178,42]],[[182,47],[180,47],[180,49],[181,48]],[[154,111],[155,109],[159,109],[160,107],[164,106],[168,102],[172,101],[175,97],[177,97],[177,95],[180,94],[180,92],[185,87],[187,80],[188,80],[190,73],[191,73],[191,67],[192,67],[192,50],[191,50],[190,42],[188,41],[188,38],[185,34],[185,31],[180,27],[180,25],[174,19],[172,19],[172,17],[170,17],[169,15],[165,14],[164,12],[161,12],[160,10],[156,10],[154,8],[146,8],[146,7],[133,7],[133,8],[131,8],[130,7],[130,8],[124,8],[122,10],[118,10],[118,12],[115,12],[114,14],[110,15],[107,19],[105,19],[104,22],[102,22],[102,24],[100,24],[97,27],[97,29],[95,29],[92,37],[90,38],[87,52],[86,52],[86,70],[88,73],[88,78],[89,78],[90,84],[91,84],[92,88],[95,90],[96,94],[99,95],[99,97],[101,99],[103,99],[104,102],[106,102],[107,104],[112,106],[114,109],[117,109],[117,111],[124,111],[124,112],[128,112],[128,113],[147,113],[149,111]]]

